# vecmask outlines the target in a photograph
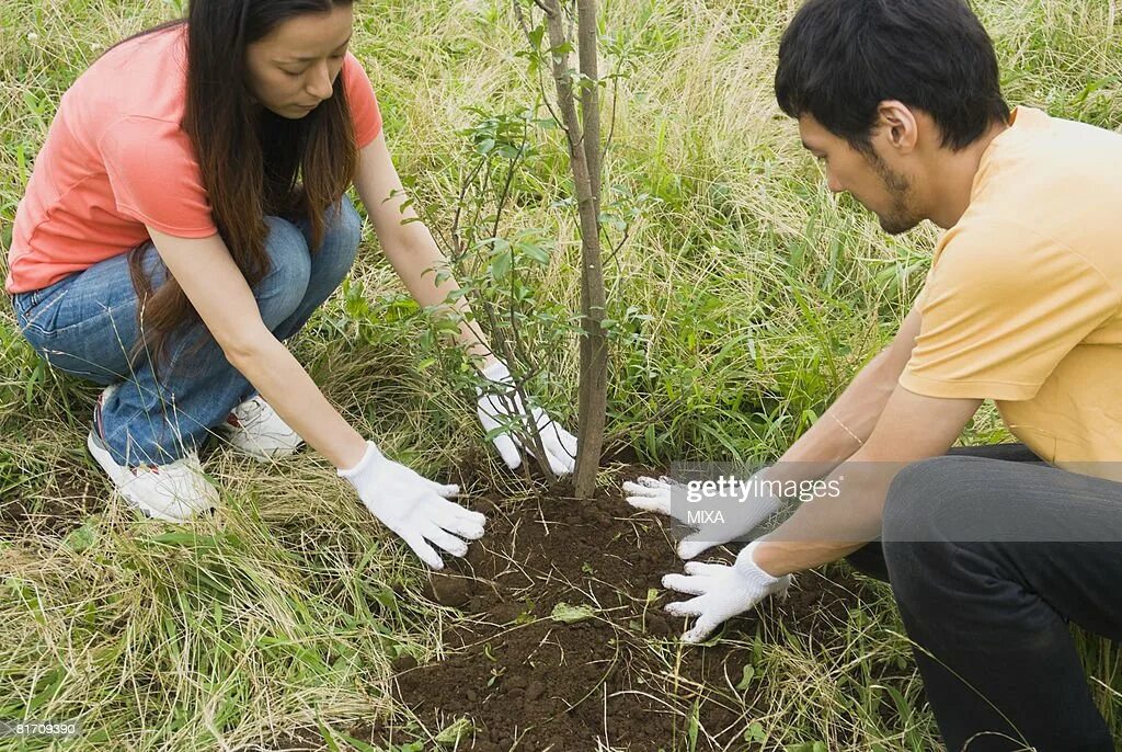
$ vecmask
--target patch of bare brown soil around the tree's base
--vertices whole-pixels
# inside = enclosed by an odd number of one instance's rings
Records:
[[[826,639],[864,587],[842,568],[809,572],[785,602],[726,624],[717,644],[682,646],[686,620],[662,612],[688,597],[661,587],[663,575],[682,570],[668,525],[633,510],[618,488],[588,503],[476,498],[471,506],[487,514],[487,535],[466,559],[450,560],[429,593],[467,618],[445,631],[444,660],[419,666],[403,655],[394,664],[398,698],[426,728],[470,719],[448,749],[583,752],[597,740],[616,750],[686,749],[695,706],[714,736],[701,734],[695,749],[745,749],[753,682],[735,688],[753,662],[744,643],[782,639],[780,623]],[[721,554],[730,560],[727,551],[710,559]],[[553,617],[559,604],[589,615],[565,623]],[[386,726],[355,733],[389,749],[416,739]]]

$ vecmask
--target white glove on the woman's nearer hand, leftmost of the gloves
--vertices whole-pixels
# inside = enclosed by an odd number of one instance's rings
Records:
[[[468,544],[460,539],[476,540],[484,534],[484,515],[448,501],[460,493],[459,486],[442,486],[386,459],[373,441],[366,442],[361,461],[339,470],[339,477],[347,478],[366,508],[433,569],[443,569],[444,562],[430,542],[462,557]]]

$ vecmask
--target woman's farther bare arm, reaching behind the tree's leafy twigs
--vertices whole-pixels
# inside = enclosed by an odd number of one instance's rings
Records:
[[[459,284],[429,228],[417,220],[412,207],[403,209],[407,196],[389,157],[384,134],[360,153],[355,187],[374,223],[383,251],[410,294],[421,305],[443,305],[449,294],[459,290]],[[436,270],[448,272],[440,284],[436,283]],[[470,318],[470,308],[465,299],[456,301],[454,308]],[[469,355],[480,358],[481,368],[495,364],[490,345],[476,321],[462,321],[459,341]]]

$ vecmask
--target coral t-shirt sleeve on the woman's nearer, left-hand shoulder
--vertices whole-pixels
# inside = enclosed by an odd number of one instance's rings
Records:
[[[105,130],[100,149],[122,214],[175,237],[218,232],[191,139],[176,123],[125,118]]]

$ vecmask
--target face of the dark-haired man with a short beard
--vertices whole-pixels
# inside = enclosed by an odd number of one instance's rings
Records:
[[[822,163],[830,191],[856,199],[876,214],[885,232],[900,235],[926,219],[914,205],[911,181],[880,155],[875,135],[872,154],[865,154],[810,114],[799,118],[799,132],[802,145]]]

